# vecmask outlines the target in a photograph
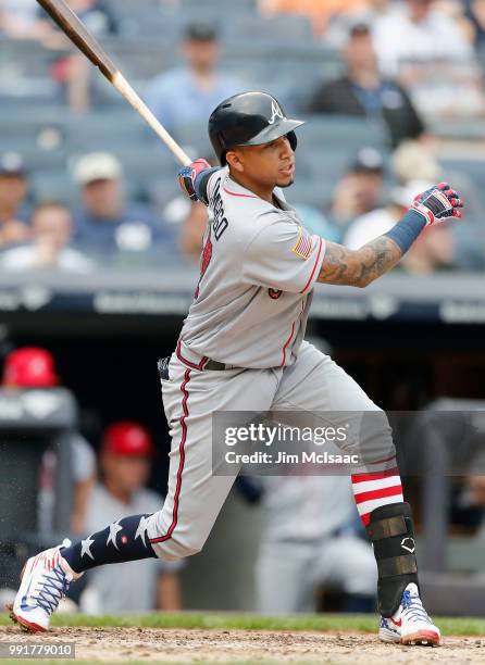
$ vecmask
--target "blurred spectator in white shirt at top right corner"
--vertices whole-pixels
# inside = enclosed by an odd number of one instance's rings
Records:
[[[457,21],[435,0],[406,0],[373,27],[382,71],[397,76],[422,113],[478,115],[481,72]]]

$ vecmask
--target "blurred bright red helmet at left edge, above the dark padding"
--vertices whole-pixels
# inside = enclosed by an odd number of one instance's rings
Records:
[[[3,368],[3,385],[15,388],[58,386],[54,359],[46,349],[24,347],[9,353]]]

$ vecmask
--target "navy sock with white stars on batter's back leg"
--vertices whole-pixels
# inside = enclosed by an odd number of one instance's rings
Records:
[[[102,531],[63,549],[62,556],[75,573],[104,564],[157,557],[147,535],[149,517],[132,515],[116,519]]]

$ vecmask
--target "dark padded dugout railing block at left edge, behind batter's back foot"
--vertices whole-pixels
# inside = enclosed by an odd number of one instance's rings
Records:
[[[76,425],[76,401],[66,389],[0,389],[0,588],[15,587],[21,562],[71,529]],[[48,450],[53,486],[41,487]]]

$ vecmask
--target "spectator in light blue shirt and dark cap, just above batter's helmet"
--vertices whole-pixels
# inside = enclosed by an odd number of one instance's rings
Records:
[[[184,141],[187,139],[177,136],[177,127],[182,130],[190,123],[202,127],[221,100],[240,92],[244,86],[236,77],[217,72],[221,46],[212,25],[189,25],[182,54],[185,64],[158,76],[148,89],[147,101],[164,127]]]

